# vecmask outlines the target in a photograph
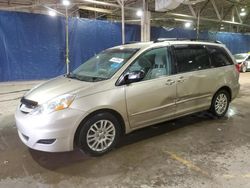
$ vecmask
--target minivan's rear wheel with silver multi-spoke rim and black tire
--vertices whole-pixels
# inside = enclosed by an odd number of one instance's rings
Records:
[[[227,113],[230,103],[229,93],[226,90],[219,90],[213,97],[210,111],[213,115],[221,118]]]

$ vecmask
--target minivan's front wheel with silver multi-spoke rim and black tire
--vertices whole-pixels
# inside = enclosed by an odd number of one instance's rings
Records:
[[[98,113],[81,126],[77,145],[84,153],[100,156],[114,148],[120,133],[121,126],[114,115],[108,112]]]

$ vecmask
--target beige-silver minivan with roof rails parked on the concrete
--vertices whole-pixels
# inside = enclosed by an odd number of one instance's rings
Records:
[[[222,117],[239,92],[234,61],[212,42],[107,49],[27,92],[15,114],[19,137],[35,150],[101,155],[139,128],[203,110]]]

